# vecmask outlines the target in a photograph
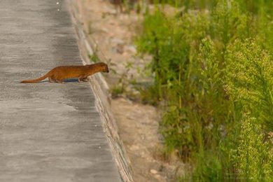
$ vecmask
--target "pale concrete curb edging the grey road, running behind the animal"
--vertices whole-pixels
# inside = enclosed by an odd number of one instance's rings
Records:
[[[69,8],[71,12],[71,19],[76,30],[78,45],[80,48],[80,55],[83,59],[83,64],[91,64],[89,55],[97,55],[102,62],[107,62],[103,57],[102,52],[97,48],[97,44],[87,38],[87,34],[82,28],[80,18],[78,17],[78,5],[75,1],[69,1]],[[123,181],[133,181],[132,168],[130,167],[130,161],[127,157],[123,142],[118,136],[118,127],[116,126],[116,120],[111,113],[110,99],[109,99],[109,86],[101,73],[97,73],[89,77],[90,85],[95,94],[95,102],[97,111],[102,118],[102,124],[104,132],[109,141],[113,158],[116,160],[121,179]]]

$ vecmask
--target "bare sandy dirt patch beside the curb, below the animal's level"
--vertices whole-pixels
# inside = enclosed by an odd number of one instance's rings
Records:
[[[177,173],[183,172],[179,160],[162,160],[159,117],[153,106],[119,98],[112,100],[112,111],[132,163],[134,181],[172,181]]]

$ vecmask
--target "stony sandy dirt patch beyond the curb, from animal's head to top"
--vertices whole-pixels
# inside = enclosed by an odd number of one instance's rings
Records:
[[[106,78],[109,84],[116,84],[125,73],[127,78],[140,79],[139,70],[146,63],[134,56],[137,49],[132,42],[141,25],[141,15],[134,11],[117,13],[117,8],[105,0],[82,1],[80,7],[85,31],[111,62],[112,74]]]

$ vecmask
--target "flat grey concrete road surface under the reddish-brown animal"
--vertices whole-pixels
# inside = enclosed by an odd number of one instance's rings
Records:
[[[0,0],[0,181],[120,181],[88,83],[20,83],[66,64],[65,1]]]

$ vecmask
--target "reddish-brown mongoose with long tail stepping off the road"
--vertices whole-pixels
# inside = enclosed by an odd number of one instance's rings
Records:
[[[107,64],[104,62],[98,62],[95,64],[87,64],[85,66],[57,66],[40,78],[34,80],[22,80],[21,83],[38,83],[45,78],[48,78],[50,83],[62,83],[64,79],[67,78],[78,78],[78,82],[80,82],[81,80],[86,80],[87,76],[100,71],[108,73],[109,69]]]

